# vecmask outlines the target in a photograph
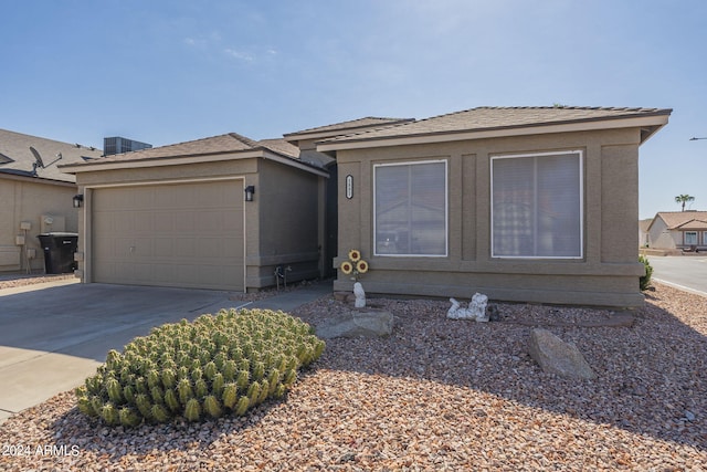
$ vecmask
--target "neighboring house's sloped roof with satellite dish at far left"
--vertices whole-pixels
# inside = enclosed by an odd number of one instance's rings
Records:
[[[96,148],[0,129],[0,175],[74,183],[76,177],[62,172],[57,166],[98,159],[102,154]]]

